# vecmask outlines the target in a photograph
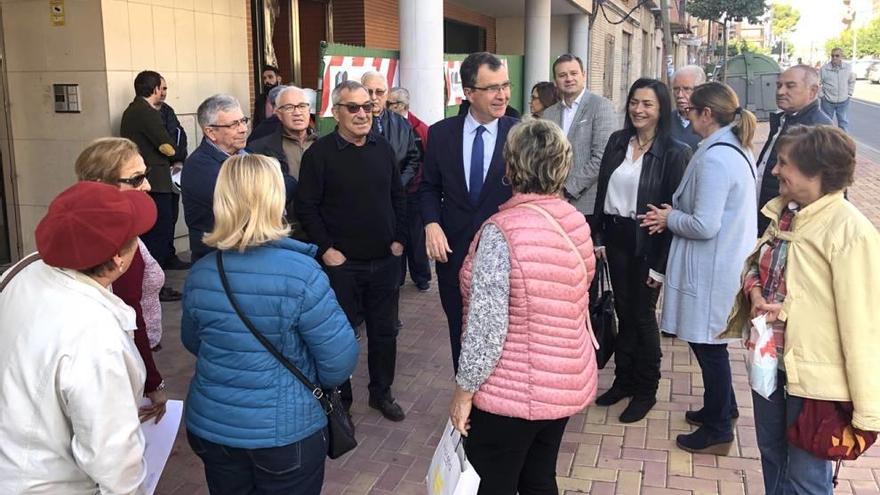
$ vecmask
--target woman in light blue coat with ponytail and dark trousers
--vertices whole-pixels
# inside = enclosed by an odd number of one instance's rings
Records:
[[[703,408],[685,414],[699,428],[676,443],[689,452],[725,455],[739,413],[727,343],[716,336],[726,327],[740,269],[757,237],[756,120],[733,90],[716,82],[694,90],[688,118],[703,141],[672,206],[651,206],[642,225],[652,234],[673,234],[660,328],[690,344],[703,374]]]

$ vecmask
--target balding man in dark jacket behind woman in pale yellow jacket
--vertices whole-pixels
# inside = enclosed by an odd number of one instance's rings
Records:
[[[776,106],[770,115],[770,135],[758,156],[758,235],[770,220],[760,213],[771,199],[779,196],[779,180],[773,175],[776,165],[776,142],[795,125],[831,124],[819,105],[819,73],[809,65],[795,65],[776,80]]]

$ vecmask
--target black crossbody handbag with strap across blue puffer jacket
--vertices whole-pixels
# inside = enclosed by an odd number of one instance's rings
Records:
[[[342,398],[339,396],[339,390],[334,388],[331,390],[322,390],[320,386],[311,382],[289,359],[284,357],[278,349],[266,340],[266,337],[254,327],[254,324],[244,315],[239,308],[235,298],[232,297],[232,290],[229,289],[229,281],[226,280],[226,272],[223,270],[223,252],[217,251],[217,271],[220,273],[220,281],[223,283],[223,290],[226,291],[226,297],[232,304],[232,309],[238,313],[244,326],[254,334],[254,337],[263,344],[263,347],[272,354],[281,364],[290,371],[321,404],[324,413],[327,415],[327,432],[328,447],[327,457],[336,459],[342,457],[346,452],[357,447],[357,439],[354,437],[354,423],[351,421],[348,411],[342,405]]]

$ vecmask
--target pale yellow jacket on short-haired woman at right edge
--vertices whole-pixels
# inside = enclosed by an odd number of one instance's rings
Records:
[[[779,314],[786,322],[788,393],[852,401],[853,425],[880,431],[880,234],[842,192],[803,208],[790,232],[777,227],[783,203],[777,197],[761,210],[770,226],[746,267],[763,243],[790,241]],[[720,337],[742,336],[750,308],[740,291]]]

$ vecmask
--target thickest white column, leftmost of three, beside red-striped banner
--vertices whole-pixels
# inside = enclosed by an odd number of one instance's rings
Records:
[[[400,85],[410,110],[431,125],[443,119],[443,0],[400,0]]]

